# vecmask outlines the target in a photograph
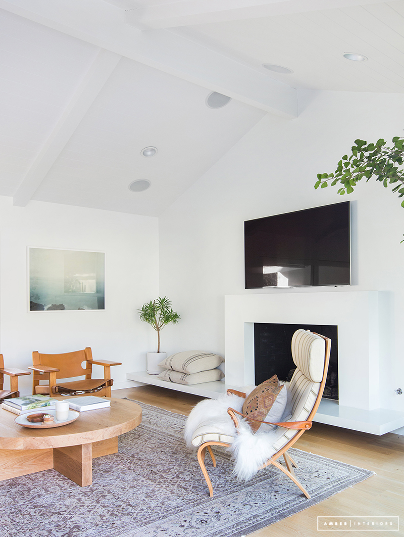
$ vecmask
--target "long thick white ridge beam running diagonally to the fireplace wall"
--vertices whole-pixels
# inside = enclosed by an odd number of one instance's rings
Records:
[[[297,117],[297,91],[167,30],[141,32],[101,0],[0,0],[0,8],[266,112]]]

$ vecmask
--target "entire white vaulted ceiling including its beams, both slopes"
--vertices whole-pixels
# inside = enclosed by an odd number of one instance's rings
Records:
[[[156,216],[264,114],[296,118],[297,89],[404,91],[402,0],[0,0],[0,28],[0,195],[19,206]]]

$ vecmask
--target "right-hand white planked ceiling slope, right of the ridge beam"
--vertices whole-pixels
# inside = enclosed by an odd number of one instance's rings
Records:
[[[327,4],[328,2],[323,2]],[[371,3],[196,25],[195,38],[295,88],[404,92],[404,2]],[[368,61],[347,61],[356,52]]]

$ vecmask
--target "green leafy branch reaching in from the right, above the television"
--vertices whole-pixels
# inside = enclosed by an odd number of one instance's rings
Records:
[[[340,195],[350,194],[362,178],[367,183],[373,177],[385,188],[389,184],[398,183],[393,186],[392,192],[398,193],[399,198],[404,197],[404,170],[400,169],[404,161],[404,138],[394,136],[392,142],[393,147],[387,147],[383,138],[369,144],[365,140],[355,140],[351,155],[344,155],[333,173],[317,174],[314,188],[339,184]],[[401,207],[404,207],[404,200]]]

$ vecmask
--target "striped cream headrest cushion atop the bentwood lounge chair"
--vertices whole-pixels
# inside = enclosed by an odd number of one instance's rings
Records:
[[[292,337],[295,365],[312,382],[321,382],[324,372],[325,341],[317,334],[296,330]]]

